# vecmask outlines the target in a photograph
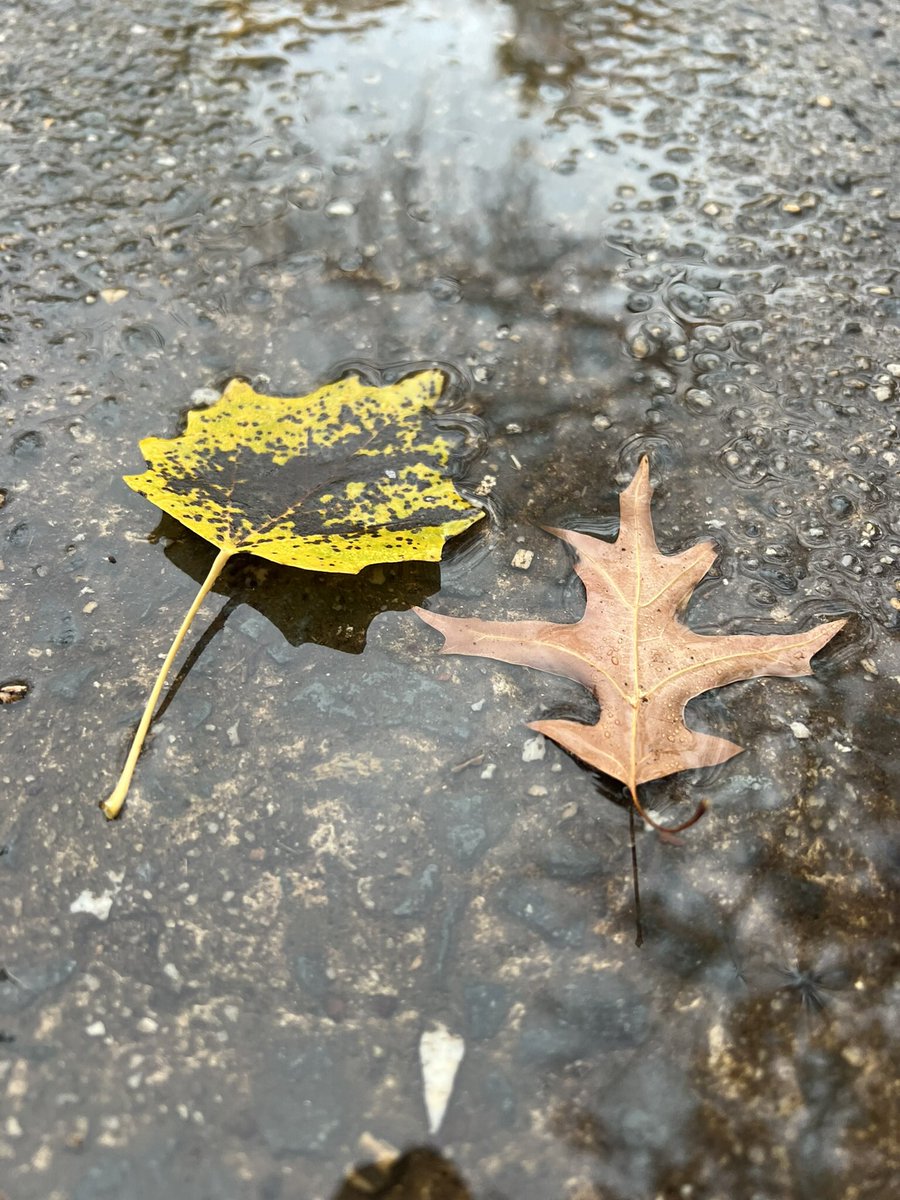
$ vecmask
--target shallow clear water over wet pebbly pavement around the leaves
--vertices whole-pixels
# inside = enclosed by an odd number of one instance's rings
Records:
[[[10,1200],[889,1194],[900,29],[784,17],[14,6]],[[210,559],[121,484],[139,438],[235,374],[431,361],[484,421],[490,526],[440,571],[236,566],[107,826]],[[640,834],[637,950],[620,797],[526,751],[589,697],[440,658],[406,610],[575,618],[540,527],[613,535],[642,454],[661,547],[720,548],[696,629],[851,620],[814,677],[691,706],[746,752],[647,787],[710,812],[682,846]],[[466,1055],[430,1136],[437,1025]]]

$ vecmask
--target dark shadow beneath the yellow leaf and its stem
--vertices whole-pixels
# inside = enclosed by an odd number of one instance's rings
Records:
[[[163,515],[150,541],[164,541],[166,557],[199,587],[215,558],[214,547]],[[343,654],[361,654],[372,620],[382,612],[403,612],[440,588],[439,563],[384,563],[358,575],[305,571],[252,554],[235,554],[212,592],[228,598],[193,644],[172,680],[156,719],[164,713],[203,652],[241,605],[254,608],[290,646],[314,642]]]

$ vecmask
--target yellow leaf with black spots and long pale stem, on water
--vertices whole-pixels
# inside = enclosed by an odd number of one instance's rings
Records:
[[[437,562],[482,512],[448,476],[451,443],[428,420],[444,377],[376,388],[355,376],[308,396],[263,396],[235,379],[190,413],[178,438],[145,438],[148,469],[125,482],[212,542],[218,554],[166,656],[121,778],[118,816],[181,642],[226,563],[252,553],[355,575],[372,563]]]

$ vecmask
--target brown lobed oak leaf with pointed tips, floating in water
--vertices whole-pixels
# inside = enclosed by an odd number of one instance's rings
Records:
[[[576,552],[587,593],[574,624],[496,622],[415,611],[444,635],[445,654],[474,654],[565,676],[600,702],[594,725],[533,721],[582,762],[628,787],[638,812],[641,784],[694,767],[710,767],[742,746],[684,724],[684,707],[712,688],[756,676],[811,674],[810,659],[845,624],[832,620],[787,635],[702,635],[683,620],[691,592],[716,551],[702,541],[680,554],[661,554],[650,521],[650,470],[642,458],[619,497],[614,542],[571,529],[548,529]],[[701,815],[703,806],[686,828]],[[670,830],[670,832],[677,832]]]

